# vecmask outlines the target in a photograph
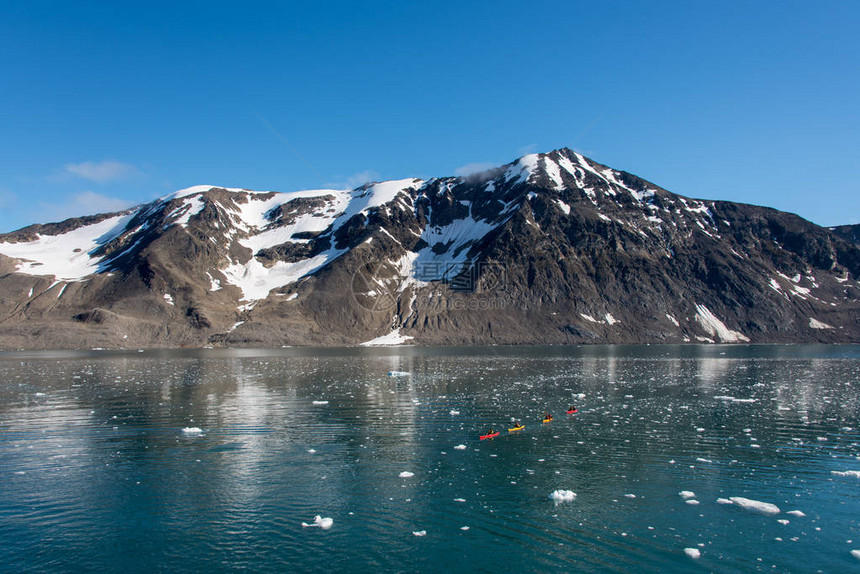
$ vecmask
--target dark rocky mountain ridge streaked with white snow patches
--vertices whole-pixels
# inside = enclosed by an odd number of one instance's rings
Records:
[[[860,342],[857,231],[568,149],[346,192],[192,188],[0,235],[0,347]]]

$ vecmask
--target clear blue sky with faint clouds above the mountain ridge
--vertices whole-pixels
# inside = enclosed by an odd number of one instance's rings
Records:
[[[4,2],[0,231],[559,147],[860,223],[858,29],[860,2]]]

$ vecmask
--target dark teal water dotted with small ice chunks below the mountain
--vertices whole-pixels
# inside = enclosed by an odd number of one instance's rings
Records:
[[[857,570],[858,359],[713,345],[0,354],[0,569]],[[526,429],[508,433],[512,417]],[[491,426],[502,436],[479,441]],[[557,489],[575,500],[556,505]],[[718,502],[732,497],[779,513]],[[302,526],[316,515],[331,528]]]

